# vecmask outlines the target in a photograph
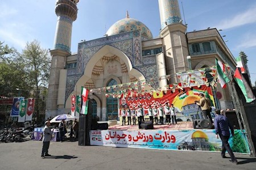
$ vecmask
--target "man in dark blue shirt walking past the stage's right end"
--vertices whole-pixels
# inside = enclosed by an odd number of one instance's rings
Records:
[[[230,137],[230,132],[229,129],[231,130],[231,134],[234,136],[234,129],[232,125],[230,125],[229,120],[226,116],[221,115],[220,110],[216,109],[216,117],[214,118],[214,127],[216,131],[216,138],[220,136],[221,141],[222,141],[222,150],[221,150],[221,156],[222,158],[226,158],[225,152],[228,151],[231,160],[230,162],[237,164],[237,159],[234,156],[233,151],[230,148],[229,145],[229,137]]]

